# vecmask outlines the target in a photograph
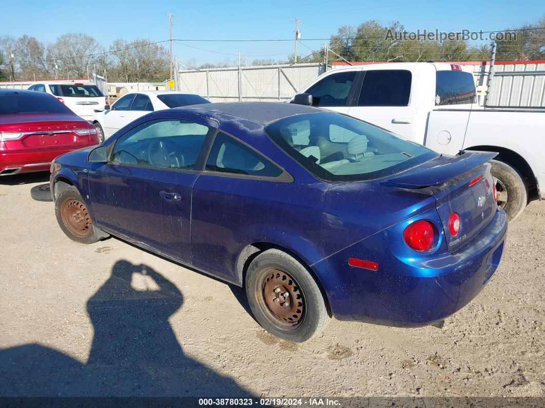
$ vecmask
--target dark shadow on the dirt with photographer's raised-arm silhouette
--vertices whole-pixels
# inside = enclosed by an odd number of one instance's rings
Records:
[[[39,344],[0,350],[0,395],[252,397],[184,354],[168,322],[183,302],[152,268],[117,261],[87,301],[94,327],[87,363]]]

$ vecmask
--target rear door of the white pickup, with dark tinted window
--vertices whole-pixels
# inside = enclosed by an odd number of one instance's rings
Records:
[[[410,103],[412,75],[408,70],[362,71],[348,114],[414,140],[417,120],[415,103]]]

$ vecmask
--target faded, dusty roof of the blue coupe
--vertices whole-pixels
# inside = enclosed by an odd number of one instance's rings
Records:
[[[305,105],[296,105],[286,102],[218,102],[218,103],[200,103],[199,105],[190,105],[180,108],[174,108],[173,111],[191,113],[199,111],[208,113],[215,119],[225,117],[225,114],[238,116],[248,120],[267,125],[278,119],[287,118],[294,115],[316,112],[331,112],[321,108],[315,108]]]

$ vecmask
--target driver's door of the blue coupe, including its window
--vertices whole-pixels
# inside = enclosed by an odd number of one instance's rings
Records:
[[[116,137],[108,162],[89,170],[96,225],[189,262],[191,190],[204,160],[201,147],[215,128],[212,120],[177,115],[144,121]]]

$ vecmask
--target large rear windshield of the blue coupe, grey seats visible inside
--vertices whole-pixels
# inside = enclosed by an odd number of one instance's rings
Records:
[[[265,131],[288,155],[325,181],[376,179],[438,156],[420,144],[338,113],[296,115],[272,123]]]

